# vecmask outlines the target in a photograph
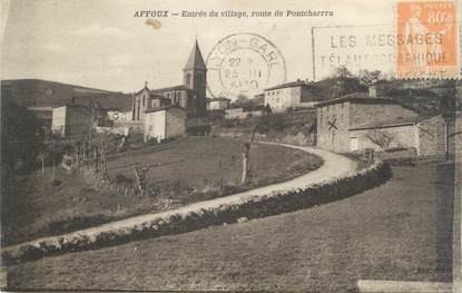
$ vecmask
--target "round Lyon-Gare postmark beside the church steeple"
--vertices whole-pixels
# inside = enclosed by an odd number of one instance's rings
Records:
[[[207,57],[207,88],[214,98],[253,98],[285,81],[284,56],[273,42],[256,33],[229,35]]]

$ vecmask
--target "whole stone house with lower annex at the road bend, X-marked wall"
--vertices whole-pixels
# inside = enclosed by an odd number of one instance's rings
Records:
[[[417,156],[444,156],[448,125],[422,117],[390,98],[355,92],[317,105],[317,146],[337,153],[414,148]]]

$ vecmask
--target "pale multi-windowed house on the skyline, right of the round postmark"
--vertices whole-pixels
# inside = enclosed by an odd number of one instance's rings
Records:
[[[264,94],[265,105],[269,105],[274,113],[296,107],[313,107],[318,100],[309,84],[299,79],[264,89]]]

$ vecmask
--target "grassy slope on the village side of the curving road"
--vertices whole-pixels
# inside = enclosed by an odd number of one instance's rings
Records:
[[[154,152],[156,150],[156,152]],[[135,185],[131,165],[150,166],[147,183],[154,195],[131,196],[97,188],[78,174],[51,169],[17,179],[14,195],[2,197],[2,245],[94,226],[131,215],[158,212],[159,203],[177,205],[286,180],[322,162],[314,155],[281,146],[257,145],[250,150],[253,180],[242,186],[242,143],[227,138],[187,138],[175,147],[147,147],[110,156],[110,179]],[[269,158],[269,159],[268,159]]]

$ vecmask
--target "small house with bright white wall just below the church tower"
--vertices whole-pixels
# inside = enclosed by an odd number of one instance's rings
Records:
[[[146,110],[144,140],[181,136],[186,133],[186,109],[175,105]]]

